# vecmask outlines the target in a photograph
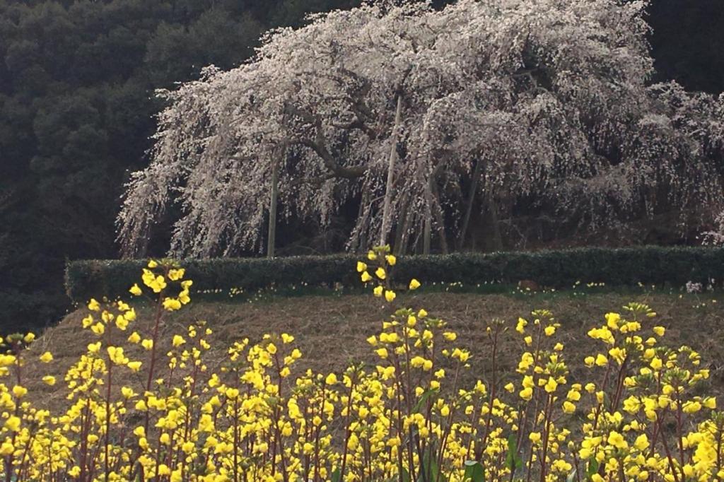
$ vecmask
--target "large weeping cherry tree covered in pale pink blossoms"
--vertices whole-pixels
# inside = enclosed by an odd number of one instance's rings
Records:
[[[264,227],[273,255],[277,223],[324,227],[350,202],[348,248],[398,253],[463,248],[481,213],[500,236],[498,216],[531,200],[592,227],[657,206],[712,216],[723,101],[649,84],[645,7],[378,1],[274,30],[250,62],[161,92],[118,218],[124,254],[143,254],[172,203],[170,251],[187,257],[261,248]]]

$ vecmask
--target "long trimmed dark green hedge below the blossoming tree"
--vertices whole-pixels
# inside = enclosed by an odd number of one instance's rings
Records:
[[[292,258],[219,258],[185,261],[193,292],[232,287],[260,289],[341,283],[360,284],[355,272],[358,255],[298,256]],[[143,260],[70,261],[65,287],[74,301],[90,297],[125,296],[140,279]],[[688,281],[707,282],[724,278],[723,248],[580,248],[536,252],[455,253],[406,256],[395,266],[395,279],[415,277],[424,283],[483,282],[517,283],[530,279],[545,287],[570,287],[573,282],[605,282],[608,285],[666,284],[681,287]]]

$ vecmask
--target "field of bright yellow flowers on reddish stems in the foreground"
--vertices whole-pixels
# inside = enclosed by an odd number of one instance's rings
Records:
[[[54,373],[55,360],[28,350],[32,334],[7,337],[0,479],[724,478],[724,415],[706,392],[708,365],[691,347],[669,347],[647,305],[602,313],[584,357],[567,357],[547,310],[491,321],[489,344],[476,351],[432,308],[398,308],[396,263],[376,248],[356,266],[390,313],[360,340],[375,362],[336,373],[298,370],[308,354],[293,334],[228,339],[223,358],[209,356],[214,334],[202,321],[168,334],[164,317],[185,309],[193,282],[165,261],[151,261],[130,287],[151,299],[150,328],[138,328],[131,300],[90,300],[80,324],[91,341],[62,379],[38,373],[38,363]],[[511,338],[521,348],[515,360],[502,349]],[[64,386],[64,403],[43,407],[28,392],[40,380]]]

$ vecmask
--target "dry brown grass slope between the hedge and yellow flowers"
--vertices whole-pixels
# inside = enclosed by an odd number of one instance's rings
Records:
[[[689,344],[702,352],[704,361],[712,364],[714,391],[720,392],[720,388],[724,387],[724,351],[721,349],[724,310],[711,304],[706,308],[694,308],[695,301],[691,297],[680,299],[678,295],[613,293],[584,297],[426,293],[402,295],[398,301],[400,305],[426,308],[458,331],[459,344],[469,347],[474,353],[473,369],[468,377],[481,379],[486,378],[490,365],[490,344],[485,327],[494,318],[501,318],[514,326],[518,316],[529,316],[531,310],[552,310],[562,324],[559,339],[566,345],[566,356],[571,365],[580,366],[586,355],[599,349],[599,345],[586,337],[586,331],[601,324],[604,313],[620,311],[622,305],[629,301],[647,303],[658,313],[654,318],[657,324],[668,328],[665,337],[668,344]],[[35,402],[46,407],[62,404],[67,394],[62,376],[85,352],[86,345],[93,341],[92,334],[80,329],[80,320],[85,314],[84,310],[71,313],[58,326],[46,330],[30,348],[25,380],[31,393],[35,394]],[[138,310],[138,315],[138,321],[131,328],[148,336],[153,318],[151,310],[142,308]],[[212,364],[213,360],[224,356],[225,349],[235,339],[248,337],[253,342],[265,333],[287,332],[295,336],[295,343],[304,354],[297,369],[311,368],[327,373],[341,371],[350,360],[374,363],[374,354],[365,339],[379,331],[384,315],[382,303],[370,295],[294,297],[251,304],[192,302],[179,313],[167,316],[163,331],[166,334],[164,339],[170,339],[174,333],[184,333],[186,325],[206,320],[214,329],[214,334],[209,337]],[[50,365],[34,361],[45,350],[54,354],[55,360]],[[511,329],[501,347],[499,360],[502,361],[502,371],[512,373],[520,352],[521,340]],[[146,360],[145,354],[139,352],[131,352],[130,355],[134,359]],[[58,377],[55,387],[39,383],[40,376],[45,373]],[[124,382],[140,386],[140,380],[127,379]]]

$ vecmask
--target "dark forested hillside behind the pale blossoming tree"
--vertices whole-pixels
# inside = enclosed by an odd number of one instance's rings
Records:
[[[119,196],[146,165],[156,88],[243,62],[269,28],[358,3],[0,0],[0,331],[64,313],[67,259],[117,258]],[[720,0],[653,0],[649,22],[653,81],[724,90]],[[164,239],[161,228],[152,254]]]

